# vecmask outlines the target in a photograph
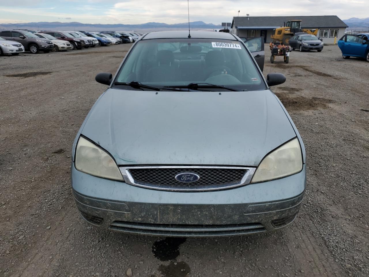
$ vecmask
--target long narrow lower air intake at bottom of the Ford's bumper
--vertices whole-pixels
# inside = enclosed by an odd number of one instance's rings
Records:
[[[175,237],[211,237],[211,236],[239,236],[265,232],[261,223],[246,223],[234,225],[172,225],[148,224],[126,221],[114,221],[110,230],[152,236]]]

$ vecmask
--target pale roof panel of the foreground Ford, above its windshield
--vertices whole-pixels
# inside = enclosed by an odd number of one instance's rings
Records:
[[[230,33],[208,32],[208,31],[190,31],[191,38],[214,38],[220,40],[237,40]],[[145,35],[141,40],[152,40],[155,38],[188,38],[188,31],[163,31],[154,32]]]

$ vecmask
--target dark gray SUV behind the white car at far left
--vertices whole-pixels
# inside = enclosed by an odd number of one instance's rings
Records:
[[[48,53],[54,48],[54,44],[45,38],[39,38],[37,35],[23,30],[1,30],[0,37],[6,40],[19,42],[26,51],[37,54],[39,51]]]

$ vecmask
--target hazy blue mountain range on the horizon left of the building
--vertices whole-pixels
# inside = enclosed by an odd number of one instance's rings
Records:
[[[221,25],[207,24],[203,21],[190,22],[193,30],[220,29]],[[7,23],[0,24],[1,29],[30,29],[30,30],[86,30],[86,31],[170,31],[188,30],[188,23],[166,24],[148,22],[144,24],[85,24],[79,22],[30,22],[30,23]]]

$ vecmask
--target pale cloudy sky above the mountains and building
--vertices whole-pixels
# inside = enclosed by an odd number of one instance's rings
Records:
[[[368,17],[368,0],[190,0],[190,20],[220,24],[233,16],[337,15]],[[0,0],[0,23],[77,21],[81,23],[184,23],[186,0]]]

